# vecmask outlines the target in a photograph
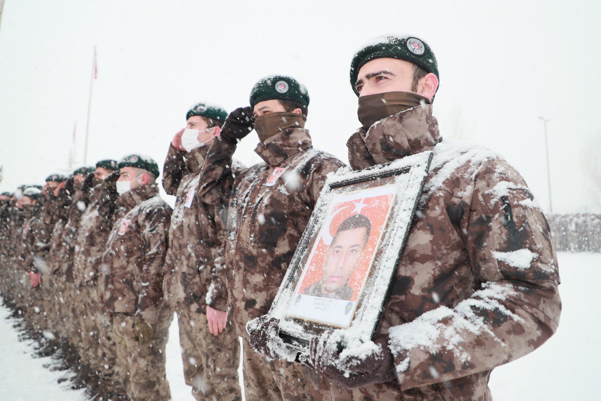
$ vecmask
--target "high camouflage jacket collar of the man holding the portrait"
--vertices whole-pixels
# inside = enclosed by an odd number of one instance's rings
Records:
[[[417,106],[355,132],[347,142],[349,161],[355,169],[387,163],[424,152],[440,138],[432,105]]]

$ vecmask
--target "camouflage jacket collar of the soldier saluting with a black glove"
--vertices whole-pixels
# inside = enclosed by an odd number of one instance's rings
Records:
[[[285,159],[313,147],[309,130],[304,128],[289,128],[259,142],[255,148],[270,167],[282,164]]]

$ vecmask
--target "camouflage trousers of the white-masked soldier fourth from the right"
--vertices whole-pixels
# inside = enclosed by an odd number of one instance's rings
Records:
[[[112,327],[117,344],[115,371],[132,401],[168,400],[169,382],[165,377],[165,346],[173,312],[160,314],[149,343],[139,344],[133,335],[133,313],[113,313]]]

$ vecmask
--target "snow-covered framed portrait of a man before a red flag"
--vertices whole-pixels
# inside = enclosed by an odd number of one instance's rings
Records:
[[[304,351],[331,329],[373,337],[432,154],[326,181],[269,311],[289,346]]]

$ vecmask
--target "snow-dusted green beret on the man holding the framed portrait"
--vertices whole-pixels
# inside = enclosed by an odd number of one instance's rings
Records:
[[[359,69],[368,61],[376,58],[397,58],[409,61],[409,63],[417,64],[427,72],[433,73],[440,81],[436,57],[426,41],[415,36],[388,35],[374,38],[353,56],[353,61],[350,63],[350,85],[357,96],[359,93],[355,90],[355,82],[357,82]]]

